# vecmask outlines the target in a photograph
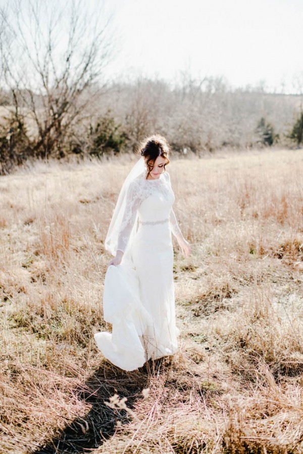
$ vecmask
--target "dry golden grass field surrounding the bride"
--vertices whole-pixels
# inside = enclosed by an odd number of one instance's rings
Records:
[[[0,452],[302,453],[303,152],[172,160],[180,349],[127,373],[93,332],[132,165],[0,178]]]

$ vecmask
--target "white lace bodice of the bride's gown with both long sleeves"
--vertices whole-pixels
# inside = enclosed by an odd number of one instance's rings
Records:
[[[143,173],[135,178],[126,194],[117,250],[125,251],[137,218],[143,224],[154,224],[169,219],[172,233],[175,236],[180,234],[172,209],[174,200],[169,173],[162,173],[156,180],[147,180]]]

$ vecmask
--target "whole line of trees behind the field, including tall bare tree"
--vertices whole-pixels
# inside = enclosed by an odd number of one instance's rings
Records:
[[[300,146],[299,95],[186,72],[174,84],[106,83],[115,37],[103,13],[102,2],[85,0],[0,6],[0,174],[30,159],[131,152],[153,132],[182,154]]]

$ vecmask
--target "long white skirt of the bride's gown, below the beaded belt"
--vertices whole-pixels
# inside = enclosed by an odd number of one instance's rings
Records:
[[[104,318],[112,333],[94,335],[98,348],[126,371],[177,349],[173,246],[168,222],[139,224],[130,259],[111,265],[103,295]]]

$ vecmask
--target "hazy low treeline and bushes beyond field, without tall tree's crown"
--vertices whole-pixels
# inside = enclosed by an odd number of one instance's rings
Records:
[[[49,94],[45,103],[28,90],[1,92],[2,174],[33,158],[131,152],[155,131],[182,154],[302,143],[300,96],[231,90],[216,78],[174,87],[142,78],[102,90],[91,86],[81,93],[86,99],[81,110],[77,97],[65,109],[71,101],[59,95]]]

